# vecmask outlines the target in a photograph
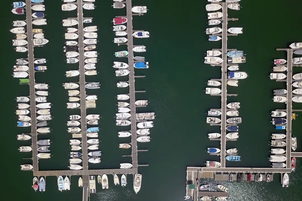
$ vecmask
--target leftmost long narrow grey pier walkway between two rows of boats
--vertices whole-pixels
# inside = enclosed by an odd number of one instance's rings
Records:
[[[33,44],[33,24],[32,24],[32,10],[31,1],[26,0],[26,26],[27,26],[27,40],[28,40],[28,67],[29,67],[29,98],[30,98],[30,117],[31,117],[31,137],[32,137],[32,152],[33,152],[33,171],[39,170],[38,161],[38,136],[37,136],[37,116],[36,116],[36,93],[35,93],[35,66],[34,66],[34,44]]]

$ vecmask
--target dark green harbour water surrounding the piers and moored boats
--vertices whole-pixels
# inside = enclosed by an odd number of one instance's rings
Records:
[[[285,83],[274,82],[268,78],[271,61],[274,58],[285,58],[285,52],[275,51],[275,48],[286,48],[290,43],[301,41],[300,26],[297,26],[301,13],[298,9],[301,1],[294,1],[295,5],[281,0],[268,1],[242,1],[241,11],[230,11],[230,18],[239,18],[239,21],[230,22],[229,27],[244,28],[244,34],[238,37],[229,37],[228,47],[244,50],[247,54],[247,63],[240,65],[249,77],[240,81],[239,87],[228,87],[229,93],[238,93],[237,97],[228,97],[228,101],[241,102],[240,138],[236,142],[228,142],[227,148],[236,147],[243,157],[241,162],[226,163],[227,166],[243,167],[269,167],[268,141],[274,127],[269,123],[269,112],[275,109],[284,109],[284,104],[273,103],[272,90],[285,87]],[[48,136],[39,136],[39,139],[50,138],[51,154],[49,160],[40,160],[41,170],[67,169],[69,145],[71,135],[66,132],[67,117],[78,114],[77,110],[67,110],[68,96],[62,83],[77,81],[76,78],[66,78],[66,70],[77,69],[77,65],[64,62],[64,30],[60,22],[67,17],[76,17],[76,12],[62,12],[61,1],[45,1],[47,26],[43,26],[45,38],[50,42],[42,48],[35,48],[36,58],[46,58],[48,70],[36,73],[36,82],[50,84],[49,102],[53,104],[50,121],[52,128]],[[89,109],[88,114],[100,114],[101,132],[100,146],[104,152],[99,165],[90,165],[90,169],[117,168],[120,162],[130,162],[130,158],[121,157],[129,155],[130,150],[118,149],[117,144],[129,142],[128,139],[118,139],[117,132],[121,128],[115,126],[116,98],[119,93],[127,93],[127,89],[118,89],[116,82],[126,80],[117,79],[111,63],[115,60],[113,53],[124,50],[125,46],[116,46],[111,30],[112,19],[115,16],[125,15],[125,9],[113,10],[112,1],[97,1],[95,11],[85,11],[85,17],[93,17],[92,25],[98,25],[99,62],[97,76],[87,77],[88,81],[99,81],[101,89],[87,91],[87,94],[97,94],[97,109]],[[139,149],[148,149],[148,152],[138,154],[140,164],[149,164],[149,167],[139,167],[143,175],[141,190],[135,195],[132,189],[132,178],[128,175],[127,188],[113,186],[113,177],[109,175],[109,190],[102,190],[97,185],[97,193],[91,200],[183,200],[185,195],[186,166],[202,166],[206,160],[218,160],[217,156],[209,156],[204,150],[207,147],[218,147],[218,141],[209,141],[206,134],[218,132],[218,127],[211,127],[205,123],[208,109],[219,108],[220,98],[205,95],[205,82],[210,78],[220,78],[220,69],[203,64],[206,50],[219,48],[221,43],[209,42],[204,34],[206,25],[206,1],[184,2],[179,0],[151,1],[133,0],[132,5],[146,5],[148,13],[144,16],[133,16],[133,29],[150,32],[149,39],[134,39],[135,45],[145,45],[144,54],[149,61],[149,69],[136,70],[136,75],[146,75],[145,78],[136,79],[136,89],[146,90],[138,93],[136,99],[148,99],[147,108],[138,109],[139,112],[155,112],[157,117],[155,127],[151,130],[152,141],[138,144]],[[3,3],[3,50],[2,50],[2,121],[3,146],[2,167],[3,187],[0,197],[2,200],[82,200],[82,188],[78,188],[78,178],[71,177],[71,190],[59,192],[56,178],[47,177],[46,192],[34,192],[31,188],[32,172],[21,172],[20,164],[30,163],[31,154],[19,153],[17,148],[21,145],[30,145],[30,142],[19,142],[16,135],[29,133],[28,129],[16,127],[16,102],[14,98],[28,95],[28,86],[19,85],[18,79],[12,78],[12,66],[17,58],[24,58],[26,54],[16,53],[11,45],[13,34],[8,30],[12,28],[13,20],[22,20],[25,16],[15,16],[10,10],[11,2]],[[9,19],[8,19],[9,18]],[[6,20],[8,19],[8,20]],[[126,61],[126,59],[120,59]],[[294,72],[302,71],[298,68]],[[294,109],[302,109],[293,104]],[[293,122],[293,135],[301,142],[299,133],[301,120]],[[299,146],[297,151],[301,151]],[[300,161],[297,170],[290,175],[291,184],[287,189],[280,185],[280,176],[275,175],[270,183],[226,183],[230,189],[229,200],[300,200],[300,178],[302,171]],[[16,184],[18,182],[18,184]],[[204,183],[208,181],[203,181]],[[212,181],[209,181],[212,182]]]

